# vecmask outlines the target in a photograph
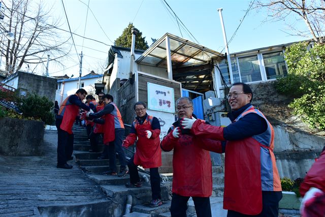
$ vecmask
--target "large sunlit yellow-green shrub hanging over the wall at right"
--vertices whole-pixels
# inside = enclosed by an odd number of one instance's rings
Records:
[[[286,49],[288,76],[275,83],[281,93],[294,97],[289,108],[311,128],[325,130],[325,45],[306,43]]]

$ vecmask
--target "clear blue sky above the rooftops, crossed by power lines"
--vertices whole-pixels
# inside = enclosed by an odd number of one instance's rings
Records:
[[[202,46],[219,52],[224,47],[224,42],[217,9],[223,8],[223,20],[229,40],[246,13],[250,2],[245,0],[166,1]],[[88,0],[63,0],[63,2],[66,7],[72,32],[83,35]],[[68,30],[67,19],[64,15],[61,1],[46,1],[46,3],[48,6],[53,6],[53,15],[61,18],[61,28]],[[105,30],[106,35],[113,42],[121,35],[123,29],[129,22],[133,22],[135,27],[142,32],[143,36],[146,37],[148,45],[152,43],[151,38],[159,39],[165,33],[171,33],[180,37],[182,33],[183,38],[190,39],[183,29],[180,32],[175,19],[171,18],[171,15],[167,12],[160,0],[90,0],[89,8]],[[93,14],[88,11],[85,37],[112,45],[113,43],[105,36]],[[259,11],[258,13],[256,11],[250,12],[239,27],[234,40],[230,43],[230,52],[233,53],[305,39],[302,37],[288,36],[284,33],[282,31],[286,28],[284,21],[263,23],[262,21],[266,17],[266,10]],[[303,23],[297,23],[296,25],[304,29],[306,28]],[[86,39],[83,42],[82,38],[76,36],[74,39],[78,53],[81,52],[82,43],[85,46],[82,49],[84,53],[82,74],[85,75],[91,70],[97,72],[99,64],[105,62],[109,46]],[[64,63],[66,68],[78,65],[79,60],[74,48],[71,50],[71,58],[62,63]],[[74,74],[76,77],[79,74],[78,66],[64,71],[60,70],[62,69],[54,65],[50,65],[49,67],[49,73],[52,73],[51,75],[68,74],[71,76],[71,74]]]

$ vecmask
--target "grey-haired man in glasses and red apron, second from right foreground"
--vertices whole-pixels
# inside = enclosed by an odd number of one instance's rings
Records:
[[[174,149],[171,215],[186,216],[187,201],[192,197],[197,216],[209,217],[211,216],[209,197],[212,194],[211,158],[210,152],[201,148],[199,144],[211,144],[212,149],[215,148],[214,151],[218,152],[222,151],[221,146],[214,145],[218,143],[217,141],[199,138],[189,131],[180,130],[180,120],[193,116],[193,103],[190,98],[179,98],[176,106],[179,120],[173,123],[167,136],[161,141],[161,149],[164,151]]]

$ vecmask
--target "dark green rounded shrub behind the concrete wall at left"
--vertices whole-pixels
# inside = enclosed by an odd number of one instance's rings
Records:
[[[26,98],[21,98],[19,104],[18,107],[23,112],[23,117],[40,119],[45,124],[52,124],[54,122],[54,103],[48,98],[30,94]]]

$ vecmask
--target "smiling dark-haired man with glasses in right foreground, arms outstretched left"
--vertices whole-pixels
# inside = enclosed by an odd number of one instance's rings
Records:
[[[223,208],[228,209],[228,217],[278,216],[282,190],[273,153],[274,130],[251,105],[253,92],[247,84],[234,83],[227,98],[232,109],[228,127],[189,118],[181,125],[197,137],[225,146]]]

